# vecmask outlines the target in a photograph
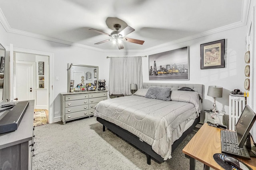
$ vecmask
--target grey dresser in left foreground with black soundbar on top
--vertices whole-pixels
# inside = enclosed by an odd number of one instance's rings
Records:
[[[33,118],[34,100],[29,100],[29,105],[18,129],[0,134],[0,169],[32,169],[32,158],[34,156]]]

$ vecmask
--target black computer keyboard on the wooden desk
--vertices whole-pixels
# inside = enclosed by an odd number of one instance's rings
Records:
[[[236,132],[234,131],[221,130],[221,152],[244,159],[250,159],[246,146],[244,145],[243,148],[238,147]]]

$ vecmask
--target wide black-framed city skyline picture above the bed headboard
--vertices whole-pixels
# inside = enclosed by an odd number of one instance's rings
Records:
[[[149,55],[149,80],[189,80],[188,47]]]

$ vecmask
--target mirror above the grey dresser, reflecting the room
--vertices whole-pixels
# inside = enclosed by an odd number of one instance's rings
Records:
[[[88,86],[89,90],[98,90],[97,82],[98,66],[68,63],[68,92],[88,91]]]

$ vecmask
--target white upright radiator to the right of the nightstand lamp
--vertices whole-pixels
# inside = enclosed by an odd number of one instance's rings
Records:
[[[229,129],[234,131],[236,123],[246,105],[246,97],[229,96]]]

